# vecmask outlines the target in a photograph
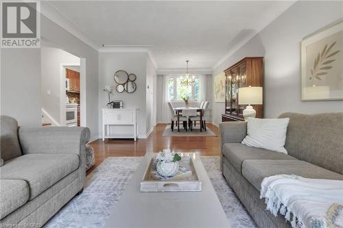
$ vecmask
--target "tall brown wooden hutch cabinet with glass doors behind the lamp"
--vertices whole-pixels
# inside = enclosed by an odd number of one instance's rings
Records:
[[[225,71],[226,99],[222,121],[244,121],[243,110],[246,105],[238,102],[238,88],[247,86],[263,87],[263,57],[249,57],[230,66]],[[263,105],[252,105],[256,117],[263,118]]]

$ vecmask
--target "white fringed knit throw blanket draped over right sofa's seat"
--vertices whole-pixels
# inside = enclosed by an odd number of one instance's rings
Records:
[[[262,198],[293,228],[343,227],[343,181],[274,175],[263,179]]]

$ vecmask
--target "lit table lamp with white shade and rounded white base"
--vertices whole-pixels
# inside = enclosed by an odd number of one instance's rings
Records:
[[[243,110],[243,117],[245,120],[248,117],[255,117],[256,111],[251,105],[263,104],[263,88],[262,87],[243,87],[238,89],[238,103],[239,105],[248,105]]]

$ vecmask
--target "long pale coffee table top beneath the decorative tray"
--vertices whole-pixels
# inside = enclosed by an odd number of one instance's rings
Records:
[[[187,155],[196,157],[194,166],[202,181],[201,192],[140,192],[140,183],[152,156],[152,153],[147,153],[110,213],[105,227],[230,228],[200,157],[196,153]]]

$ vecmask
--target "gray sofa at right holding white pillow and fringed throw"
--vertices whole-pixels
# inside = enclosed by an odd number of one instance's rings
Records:
[[[264,199],[259,199],[263,178],[294,174],[343,180],[343,113],[279,116],[285,117],[290,118],[287,155],[241,144],[246,122],[220,124],[222,174],[261,228],[290,227],[283,216],[265,210]]]

